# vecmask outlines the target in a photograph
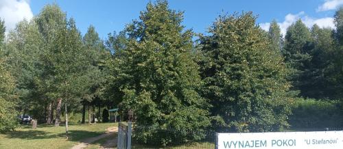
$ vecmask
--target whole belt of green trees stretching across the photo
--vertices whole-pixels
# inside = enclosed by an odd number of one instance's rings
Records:
[[[82,36],[56,4],[7,35],[0,20],[2,133],[21,115],[68,126],[107,122],[115,108],[122,121],[133,111],[142,141],[343,126],[343,8],[335,29],[298,20],[285,35],[276,21],[261,29],[253,12],[222,14],[195,33],[167,1],[105,40],[93,25]],[[170,128],[178,133],[158,135]]]

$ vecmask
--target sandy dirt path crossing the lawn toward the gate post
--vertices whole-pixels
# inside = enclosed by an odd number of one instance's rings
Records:
[[[97,141],[99,139],[103,139],[105,137],[109,137],[110,135],[114,135],[114,133],[118,132],[118,127],[117,126],[113,126],[113,127],[109,127],[106,129],[106,133],[99,135],[97,137],[90,137],[87,139],[82,140],[82,143],[73,146],[73,148],[71,149],[82,149],[82,148],[86,148],[88,146],[88,144],[93,143],[94,141]],[[117,138],[113,138],[113,139],[109,139],[108,141],[106,141],[106,144],[104,144],[103,146],[100,146],[100,148],[113,148],[113,146],[117,145]]]

